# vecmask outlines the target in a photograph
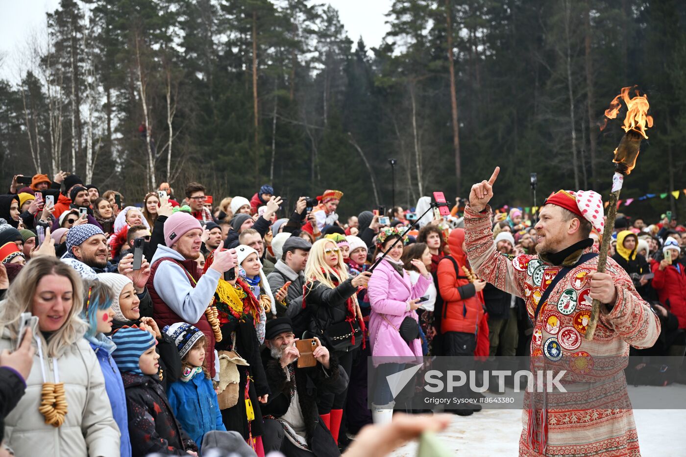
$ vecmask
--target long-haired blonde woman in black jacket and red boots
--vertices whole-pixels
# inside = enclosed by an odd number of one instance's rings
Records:
[[[331,239],[312,244],[305,266],[305,305],[311,313],[310,331],[338,359],[348,377],[355,353],[364,343],[364,321],[357,304],[357,288],[365,287],[370,272],[348,275],[343,255]],[[338,443],[343,406],[348,388],[338,394],[321,395],[319,414]]]

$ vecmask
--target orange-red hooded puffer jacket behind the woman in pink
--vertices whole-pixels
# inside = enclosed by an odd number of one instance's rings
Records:
[[[443,298],[441,333],[461,331],[477,334],[485,314],[482,292],[476,292],[474,285],[462,272],[462,266],[467,265],[462,242],[464,230],[454,229],[448,237],[448,246],[450,257],[457,261],[461,274],[455,274],[455,266],[448,258],[441,259],[438,263],[438,292]]]

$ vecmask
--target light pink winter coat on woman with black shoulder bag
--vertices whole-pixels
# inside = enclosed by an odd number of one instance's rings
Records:
[[[397,329],[400,328],[405,316],[412,316],[414,320],[418,320],[416,312],[405,311],[407,302],[423,296],[430,283],[430,279],[420,276],[416,284],[412,285],[410,275],[403,270],[401,277],[386,259],[383,259],[375,268],[369,279],[367,291],[372,307],[369,316],[369,342],[372,357],[381,358],[374,360],[375,366],[390,362],[411,363],[413,360],[421,359],[421,339],[417,338],[408,345]],[[388,359],[393,356],[401,356],[409,360]]]

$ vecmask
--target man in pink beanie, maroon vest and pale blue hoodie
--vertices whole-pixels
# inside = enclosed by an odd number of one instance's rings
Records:
[[[224,243],[220,242],[212,266],[202,274],[196,262],[202,245],[200,221],[179,211],[167,218],[164,233],[166,246],[159,245],[155,251],[147,280],[154,318],[161,328],[186,322],[200,329],[207,338],[208,368],[214,377],[215,333],[205,311],[213,301],[220,276],[236,265],[236,250],[222,250]]]

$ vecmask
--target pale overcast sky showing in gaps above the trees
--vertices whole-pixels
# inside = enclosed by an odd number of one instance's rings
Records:
[[[59,0],[0,0],[0,78],[16,82],[17,49],[23,47],[32,32],[45,29],[45,12],[54,11]],[[392,0],[330,0],[340,12],[348,36],[357,42],[362,36],[367,47],[377,47],[386,34],[386,12]]]

